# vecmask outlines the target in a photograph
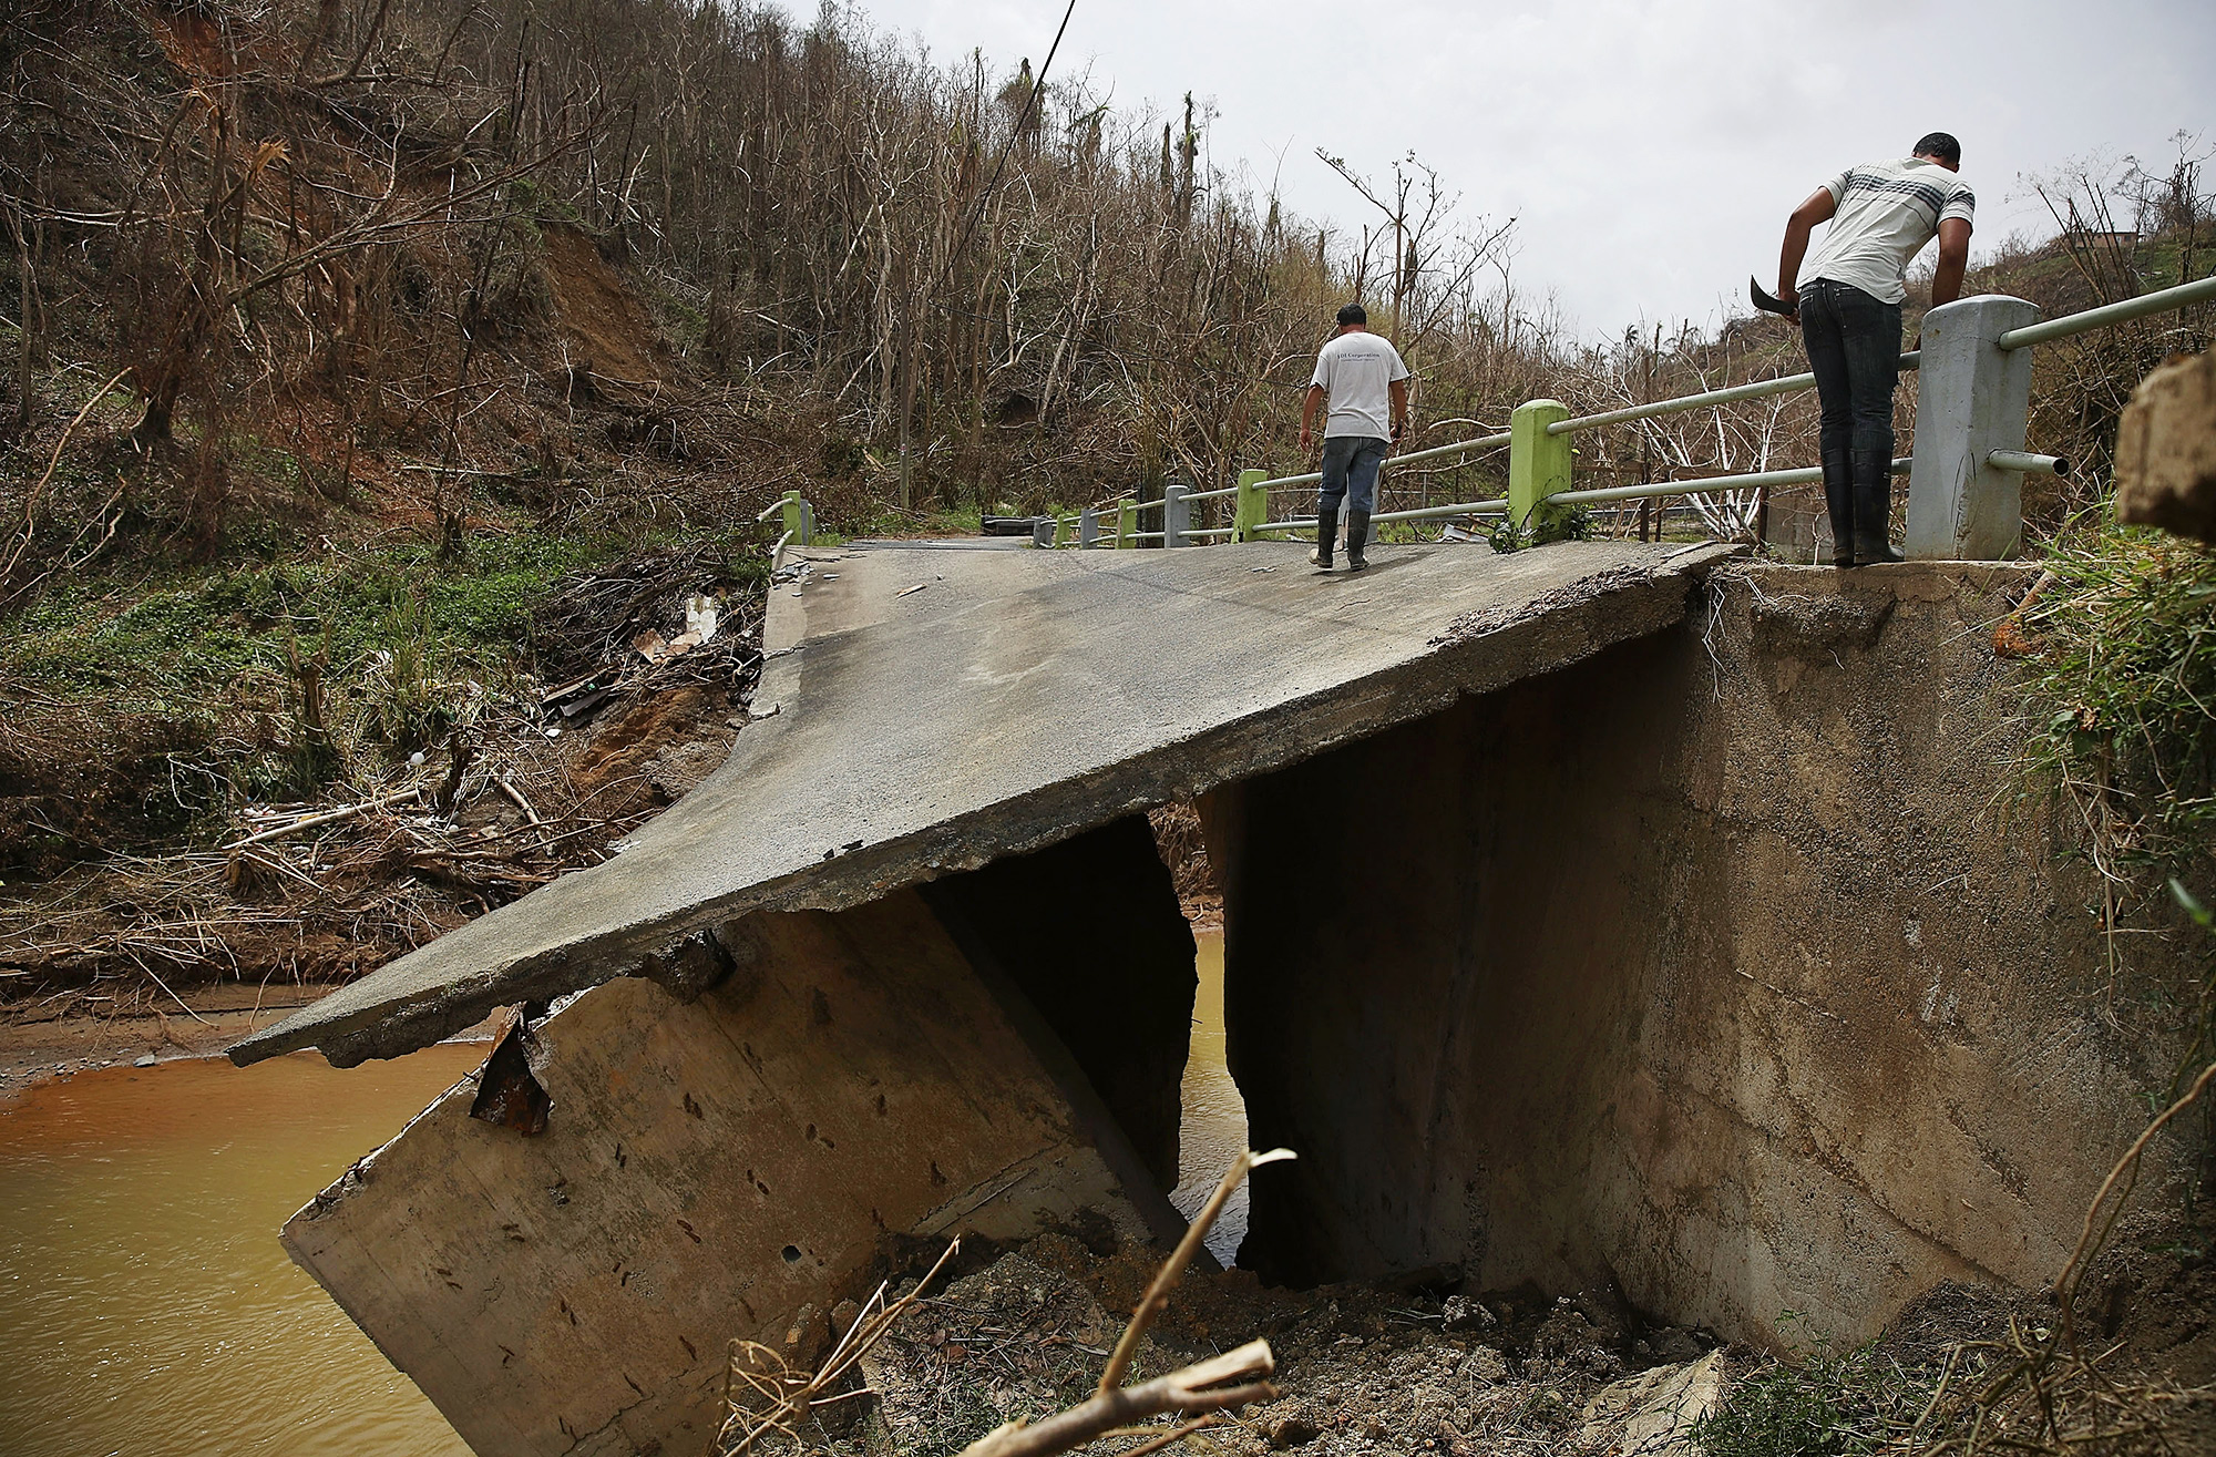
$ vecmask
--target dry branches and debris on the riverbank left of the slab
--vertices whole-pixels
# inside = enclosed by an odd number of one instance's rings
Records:
[[[689,598],[716,607],[714,636],[649,662],[638,636],[680,640]],[[714,547],[567,578],[534,633],[561,682],[516,680],[419,766],[246,804],[208,848],[113,857],[0,906],[9,994],[343,981],[607,859],[722,762],[760,673],[760,613]]]

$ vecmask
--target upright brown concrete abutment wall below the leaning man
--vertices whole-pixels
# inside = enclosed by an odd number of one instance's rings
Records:
[[[2061,1267],[2163,1050],[1992,735],[2028,574],[1722,578],[1713,620],[1203,802],[1243,1264],[1615,1282],[1861,1337]],[[2158,959],[2156,943],[2141,954]]]

